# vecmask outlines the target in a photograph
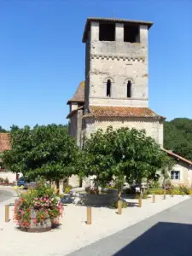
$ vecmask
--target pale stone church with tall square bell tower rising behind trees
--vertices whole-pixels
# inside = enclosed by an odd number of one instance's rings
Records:
[[[163,148],[166,118],[148,107],[148,31],[151,26],[152,22],[142,20],[86,20],[82,40],[85,80],[67,102],[69,135],[77,138],[79,146],[83,135],[89,136],[99,128],[106,130],[112,125],[113,128],[144,129]],[[191,164],[187,163],[188,172],[192,172]]]

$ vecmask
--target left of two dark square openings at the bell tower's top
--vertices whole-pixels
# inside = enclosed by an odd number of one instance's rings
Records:
[[[115,40],[115,25],[114,24],[100,24],[99,25],[99,40],[100,41],[114,41]]]

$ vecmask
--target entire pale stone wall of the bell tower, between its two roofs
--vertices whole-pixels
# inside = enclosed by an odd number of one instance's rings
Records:
[[[88,105],[148,107],[148,27],[139,26],[140,43],[124,42],[116,23],[115,41],[99,41],[99,23],[91,22],[85,55],[85,111]],[[106,96],[111,80],[111,97]],[[131,80],[131,99],[126,89]]]

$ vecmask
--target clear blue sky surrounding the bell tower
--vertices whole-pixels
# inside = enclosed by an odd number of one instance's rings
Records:
[[[149,107],[192,119],[192,1],[0,0],[0,125],[66,124],[87,17],[151,20]]]

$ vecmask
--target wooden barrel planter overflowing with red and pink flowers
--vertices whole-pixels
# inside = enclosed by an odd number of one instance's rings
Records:
[[[59,224],[62,213],[60,197],[42,181],[35,188],[19,193],[15,202],[15,221],[21,230],[28,232],[51,230],[53,224]]]

